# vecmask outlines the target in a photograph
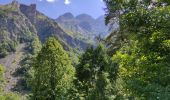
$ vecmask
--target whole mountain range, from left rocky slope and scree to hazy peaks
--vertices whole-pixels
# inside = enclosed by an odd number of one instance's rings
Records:
[[[104,16],[94,19],[87,14],[75,17],[66,13],[55,20],[39,12],[35,4],[13,1],[0,5],[0,66],[6,70],[4,92],[25,95],[29,91],[25,77],[29,76],[32,59],[41,49],[41,43],[50,36],[59,41],[76,64],[77,55],[94,45],[94,37],[105,35],[106,29]]]

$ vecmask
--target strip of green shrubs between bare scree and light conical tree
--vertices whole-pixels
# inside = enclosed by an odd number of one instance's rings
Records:
[[[27,42],[26,47],[24,48],[25,54],[23,59],[20,61],[21,68],[18,68],[14,73],[15,76],[20,76],[20,83],[16,87],[19,87],[18,91],[28,91],[31,90],[31,78],[33,74],[32,64],[37,56],[38,52],[41,50],[42,45],[38,37],[34,37],[31,42]]]

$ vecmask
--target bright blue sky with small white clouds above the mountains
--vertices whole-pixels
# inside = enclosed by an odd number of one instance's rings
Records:
[[[0,0],[0,4],[7,4],[13,0]],[[23,4],[37,5],[37,10],[51,18],[71,12],[73,15],[89,14],[94,18],[104,15],[104,2],[102,0],[17,0]]]

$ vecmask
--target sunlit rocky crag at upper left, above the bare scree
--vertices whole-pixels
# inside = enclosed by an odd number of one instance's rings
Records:
[[[37,31],[24,14],[19,4],[12,2],[0,5],[0,57],[15,52],[16,46],[22,42],[30,42],[36,37]]]

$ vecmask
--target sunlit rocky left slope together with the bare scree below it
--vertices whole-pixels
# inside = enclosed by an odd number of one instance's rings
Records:
[[[18,2],[0,5],[0,64],[5,66],[5,92],[13,92],[21,77],[14,76],[26,52],[26,44],[37,38],[31,21],[20,12]]]

